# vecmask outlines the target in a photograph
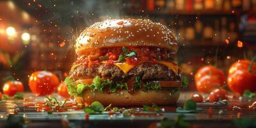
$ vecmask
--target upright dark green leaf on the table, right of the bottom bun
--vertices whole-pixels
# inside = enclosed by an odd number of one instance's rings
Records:
[[[189,99],[184,103],[183,108],[178,107],[176,109],[177,113],[191,113],[191,112],[196,112],[196,111],[201,111],[202,108],[197,108],[196,107],[196,102],[193,99]]]

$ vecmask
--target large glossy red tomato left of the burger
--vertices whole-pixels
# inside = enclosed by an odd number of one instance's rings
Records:
[[[58,77],[52,72],[37,71],[29,77],[29,88],[36,95],[51,94],[59,84]]]

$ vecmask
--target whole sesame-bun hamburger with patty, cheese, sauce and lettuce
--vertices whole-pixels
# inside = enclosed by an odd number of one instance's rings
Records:
[[[84,29],[65,79],[79,104],[173,104],[179,99],[178,44],[170,29],[145,19],[113,19]]]

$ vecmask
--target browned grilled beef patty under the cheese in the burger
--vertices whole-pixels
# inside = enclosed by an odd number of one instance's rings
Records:
[[[120,68],[115,65],[101,64],[93,67],[78,67],[70,70],[70,78],[74,81],[78,79],[89,79],[95,76],[104,77],[107,79],[118,79],[132,76],[140,76],[143,80],[169,80],[178,81],[180,75],[175,74],[165,65],[156,63],[141,63],[132,68],[125,74]]]

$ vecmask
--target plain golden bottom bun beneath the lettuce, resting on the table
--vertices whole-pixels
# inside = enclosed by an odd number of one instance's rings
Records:
[[[159,90],[143,92],[136,90],[134,93],[128,93],[126,90],[122,90],[116,93],[102,93],[92,92],[91,90],[84,90],[83,100],[85,106],[88,106],[93,101],[99,101],[104,106],[112,104],[112,106],[143,106],[152,105],[167,105],[175,104],[179,99],[179,92],[170,93],[169,90]]]

